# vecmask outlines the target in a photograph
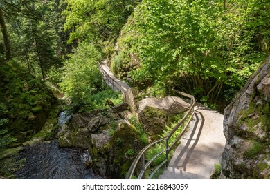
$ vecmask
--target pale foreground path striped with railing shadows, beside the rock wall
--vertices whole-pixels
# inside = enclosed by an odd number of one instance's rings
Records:
[[[169,167],[159,179],[210,179],[220,163],[225,145],[223,115],[197,104],[195,116]]]

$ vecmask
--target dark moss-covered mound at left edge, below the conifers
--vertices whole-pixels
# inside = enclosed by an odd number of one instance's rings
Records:
[[[23,143],[42,129],[57,100],[40,79],[16,61],[2,61],[0,74],[0,103],[6,106],[0,119],[8,119],[8,132],[17,143]]]

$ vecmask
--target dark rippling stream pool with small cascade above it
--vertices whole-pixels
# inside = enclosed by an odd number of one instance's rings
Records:
[[[66,123],[70,116],[60,114],[58,123]],[[19,159],[26,159],[24,166],[15,173],[17,179],[101,179],[87,169],[88,150],[60,148],[57,141],[27,146]]]

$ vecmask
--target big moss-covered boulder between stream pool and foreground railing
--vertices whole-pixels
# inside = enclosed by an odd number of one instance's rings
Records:
[[[125,121],[118,123],[114,132],[111,130],[113,128],[100,134],[92,134],[89,154],[96,174],[111,179],[123,179],[143,144],[138,130]]]

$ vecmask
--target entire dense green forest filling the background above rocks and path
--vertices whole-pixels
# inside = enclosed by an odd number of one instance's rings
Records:
[[[222,111],[270,53],[269,21],[269,0],[1,0],[0,152],[63,106],[120,103],[103,60],[142,92],[177,88]]]

